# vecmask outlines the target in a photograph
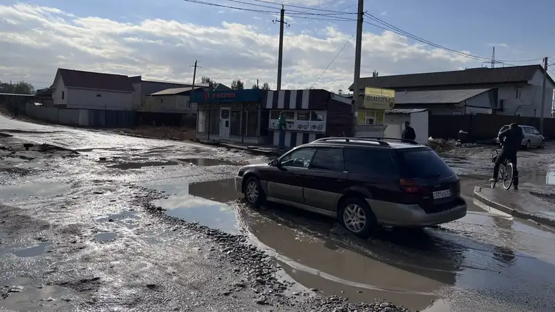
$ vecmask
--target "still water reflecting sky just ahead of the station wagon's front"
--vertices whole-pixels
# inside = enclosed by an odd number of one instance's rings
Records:
[[[154,205],[167,209],[166,214],[188,222],[198,222],[228,233],[238,233],[234,208],[225,205],[239,198],[233,180],[198,182],[165,186],[175,195],[156,200]]]

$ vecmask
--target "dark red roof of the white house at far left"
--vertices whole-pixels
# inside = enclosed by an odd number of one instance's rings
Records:
[[[119,92],[135,92],[131,80],[125,75],[113,73],[94,73],[74,69],[58,69],[66,87],[95,89]]]

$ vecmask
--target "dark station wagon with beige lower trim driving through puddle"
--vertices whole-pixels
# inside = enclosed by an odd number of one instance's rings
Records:
[[[331,216],[361,237],[377,225],[447,223],[467,209],[443,159],[402,139],[318,139],[269,164],[241,167],[235,188],[252,205],[267,200]]]

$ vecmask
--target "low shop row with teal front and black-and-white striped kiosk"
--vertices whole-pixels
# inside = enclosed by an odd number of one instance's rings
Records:
[[[279,146],[281,112],[287,148],[352,132],[351,100],[323,89],[192,92],[191,103],[203,140]]]

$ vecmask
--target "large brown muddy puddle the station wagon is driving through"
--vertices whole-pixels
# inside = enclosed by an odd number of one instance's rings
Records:
[[[480,181],[481,177],[465,181],[464,191],[471,196],[472,185]],[[465,218],[445,228],[420,232],[386,228],[362,240],[346,233],[331,218],[282,205],[252,209],[237,203],[241,196],[234,191],[232,180],[155,188],[168,195],[155,205],[167,209],[170,216],[247,233],[278,259],[290,277],[325,295],[367,302],[382,297],[412,311],[448,311],[441,309],[472,302],[466,293],[475,289],[509,292],[506,288],[514,285],[509,279],[527,281],[526,286],[518,287],[524,294],[520,297],[535,296],[534,287],[541,288],[546,297],[555,291],[545,287],[555,281],[553,261],[545,261],[550,254],[536,254],[538,246],[555,250],[555,241],[524,231],[513,220],[479,211],[479,207],[472,207]],[[535,249],[529,250],[529,245]],[[529,280],[531,274],[538,278]],[[442,300],[452,293],[459,302]],[[498,300],[511,300],[511,296]],[[522,303],[513,305],[525,310],[518,304]]]

